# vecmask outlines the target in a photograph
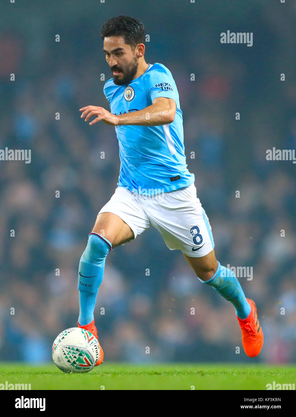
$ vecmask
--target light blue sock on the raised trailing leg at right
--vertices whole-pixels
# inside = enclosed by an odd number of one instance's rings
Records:
[[[212,278],[207,281],[199,280],[203,284],[207,284],[215,288],[219,294],[221,294],[226,300],[230,301],[235,307],[236,315],[244,320],[248,317],[251,311],[250,304],[245,298],[243,289],[238,282],[233,271],[221,266],[218,262],[218,268]]]

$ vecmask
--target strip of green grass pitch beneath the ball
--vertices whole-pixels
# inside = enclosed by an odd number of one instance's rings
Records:
[[[122,364],[105,362],[86,374],[63,374],[54,364],[0,363],[0,384],[31,384],[31,389],[203,390],[260,389],[296,384],[295,365]]]

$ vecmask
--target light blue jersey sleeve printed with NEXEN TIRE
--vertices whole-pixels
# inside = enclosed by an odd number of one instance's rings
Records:
[[[162,66],[149,71],[144,79],[144,87],[150,95],[152,103],[157,97],[172,98],[176,101],[176,85],[170,71]]]

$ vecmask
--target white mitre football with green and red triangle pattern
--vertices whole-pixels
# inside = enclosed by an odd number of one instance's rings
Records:
[[[89,372],[100,356],[98,340],[88,330],[71,327],[53,342],[52,358],[58,369],[68,373]]]

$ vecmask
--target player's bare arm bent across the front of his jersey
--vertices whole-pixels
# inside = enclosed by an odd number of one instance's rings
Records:
[[[162,126],[172,123],[176,114],[176,103],[172,98],[158,97],[153,100],[151,106],[142,110],[126,114],[114,115],[103,107],[86,106],[80,109],[83,113],[81,118],[89,121],[92,116],[96,116],[89,124],[102,121],[107,125],[134,125],[134,126]]]

